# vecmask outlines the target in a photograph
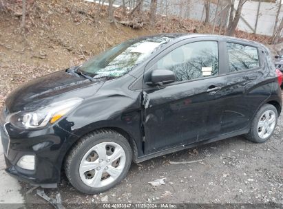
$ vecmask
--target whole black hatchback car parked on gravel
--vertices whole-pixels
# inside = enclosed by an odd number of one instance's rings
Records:
[[[269,140],[282,109],[269,50],[226,36],[132,39],[14,90],[1,113],[6,171],[81,192],[142,162],[235,135]]]

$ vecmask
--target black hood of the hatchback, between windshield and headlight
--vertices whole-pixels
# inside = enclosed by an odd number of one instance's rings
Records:
[[[65,70],[36,78],[21,85],[6,98],[6,110],[33,111],[52,102],[68,98],[86,98],[98,91],[103,82],[91,82],[88,79],[67,74]]]

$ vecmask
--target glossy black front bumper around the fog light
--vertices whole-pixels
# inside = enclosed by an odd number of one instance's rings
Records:
[[[42,187],[55,187],[61,179],[61,166],[67,150],[77,136],[54,125],[46,129],[18,129],[5,123],[1,112],[1,142],[6,161],[6,172],[20,181]],[[34,170],[17,166],[23,155],[34,155]]]

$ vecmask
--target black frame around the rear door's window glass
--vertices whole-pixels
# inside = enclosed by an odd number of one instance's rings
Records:
[[[228,47],[227,47],[227,43],[234,43],[234,44],[239,44],[239,45],[245,45],[245,46],[248,46],[248,47],[254,47],[257,52],[258,52],[258,63],[260,64],[260,66],[258,67],[253,67],[251,69],[241,69],[239,71],[235,71],[235,72],[230,72],[229,69],[230,69],[230,65],[229,65],[229,54],[228,54]],[[241,41],[232,41],[232,40],[227,40],[227,41],[224,41],[224,54],[226,54],[227,56],[227,63],[226,63],[226,67],[225,67],[225,73],[224,75],[230,75],[230,74],[240,74],[242,72],[250,72],[250,71],[255,71],[257,69],[262,69],[262,56],[260,54],[260,49],[257,45],[253,45],[253,44],[249,44],[249,43],[244,43],[244,42],[241,42]]]

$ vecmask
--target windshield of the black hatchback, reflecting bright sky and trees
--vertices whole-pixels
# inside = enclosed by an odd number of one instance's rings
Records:
[[[79,66],[77,72],[83,72],[93,78],[118,78],[145,61],[150,54],[171,39],[171,36],[162,35],[126,41],[94,56]]]

